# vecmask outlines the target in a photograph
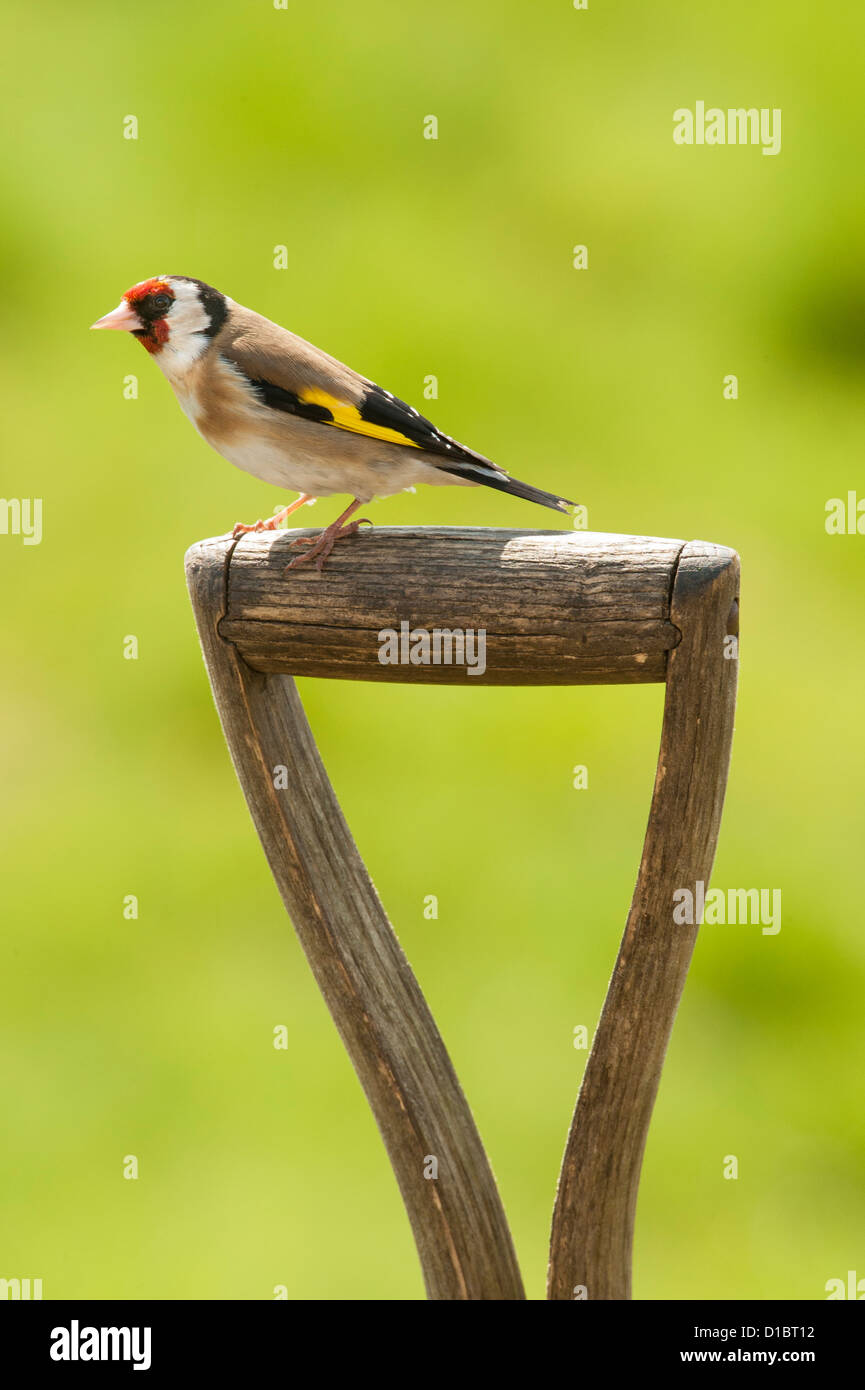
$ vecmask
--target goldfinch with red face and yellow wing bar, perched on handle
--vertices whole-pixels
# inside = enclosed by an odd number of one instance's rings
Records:
[[[154,275],[128,289],[92,328],[125,329],[168,378],[184,414],[229,463],[263,482],[299,492],[266,521],[232,535],[270,531],[307,502],[349,493],[350,505],[317,535],[291,542],[286,571],[316,562],[355,535],[373,498],[417,484],[496,488],[570,512],[573,502],[520,482],[398,396],[313,343],[192,275]]]

